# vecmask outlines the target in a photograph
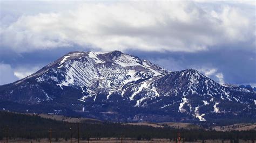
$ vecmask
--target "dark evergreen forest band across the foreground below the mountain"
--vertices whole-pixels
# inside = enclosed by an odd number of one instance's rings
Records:
[[[124,125],[107,121],[84,121],[83,123],[68,123],[45,119],[38,115],[24,115],[19,113],[0,112],[0,140],[9,139],[42,139],[51,137],[55,140],[63,138],[69,140],[79,138],[133,138],[135,140],[150,140],[152,138],[177,140],[177,134],[185,141],[197,140],[238,140],[253,141],[256,131],[220,132],[205,129],[187,130],[172,127],[151,127],[139,125]]]

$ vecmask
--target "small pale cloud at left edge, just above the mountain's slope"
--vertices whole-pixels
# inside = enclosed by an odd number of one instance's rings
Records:
[[[18,77],[14,75],[14,70],[10,65],[0,63],[0,85],[17,81]]]

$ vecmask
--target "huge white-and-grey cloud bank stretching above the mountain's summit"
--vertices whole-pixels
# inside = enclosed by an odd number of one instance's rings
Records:
[[[17,52],[58,47],[100,51],[197,52],[255,46],[254,9],[197,2],[79,3],[76,9],[19,16],[3,26],[1,45]],[[206,6],[205,6],[206,5]]]

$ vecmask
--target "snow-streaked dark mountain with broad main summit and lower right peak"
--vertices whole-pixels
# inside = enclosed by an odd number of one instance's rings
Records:
[[[70,52],[0,86],[0,108],[112,121],[255,121],[256,92],[119,51]]]

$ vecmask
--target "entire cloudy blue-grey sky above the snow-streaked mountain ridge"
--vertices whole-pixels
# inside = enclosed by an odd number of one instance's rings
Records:
[[[71,51],[122,51],[256,87],[255,1],[0,0],[0,85]]]

